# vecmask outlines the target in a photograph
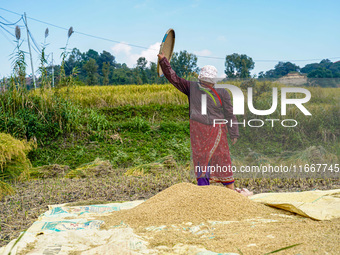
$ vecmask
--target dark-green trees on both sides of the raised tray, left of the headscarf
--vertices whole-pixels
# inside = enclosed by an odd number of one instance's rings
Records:
[[[179,76],[188,77],[198,72],[197,57],[186,51],[174,53],[171,65]],[[56,65],[54,74],[56,82],[60,76],[61,66]],[[148,62],[145,57],[137,59],[133,68],[125,63],[118,63],[110,52],[98,53],[95,50],[80,52],[74,48],[64,63],[67,76],[76,74],[76,82],[80,85],[124,85],[124,84],[163,84],[164,77],[158,77],[157,63]],[[49,74],[52,66],[47,67]]]

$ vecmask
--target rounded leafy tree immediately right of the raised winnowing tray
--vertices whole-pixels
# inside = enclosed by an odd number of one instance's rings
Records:
[[[196,55],[187,51],[175,52],[171,58],[171,66],[180,77],[188,77],[199,71]]]

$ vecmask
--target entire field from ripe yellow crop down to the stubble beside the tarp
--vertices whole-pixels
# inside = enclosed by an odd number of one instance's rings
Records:
[[[272,87],[282,86],[253,83],[255,107],[268,109]],[[240,126],[239,140],[230,143],[233,165],[339,163],[340,89],[308,90],[305,106],[312,116],[290,106],[281,116],[280,105],[268,116],[296,119],[297,127]],[[196,181],[190,174],[188,101],[172,85],[12,89],[0,97],[0,132],[11,135],[0,143],[12,144],[0,158],[0,245],[28,228],[48,204],[146,199]],[[249,111],[243,117],[261,119]],[[337,176],[235,175],[237,187],[255,193],[339,188]]]

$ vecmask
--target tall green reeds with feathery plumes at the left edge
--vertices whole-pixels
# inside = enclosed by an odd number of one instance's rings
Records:
[[[62,48],[62,69],[72,33],[71,27],[68,31],[66,46]],[[40,88],[27,90],[25,52],[20,49],[22,41],[20,41],[19,27],[16,27],[16,35],[16,49],[12,54],[13,75],[5,84],[6,89],[0,93],[0,132],[12,134],[21,139],[35,137],[42,141],[74,131],[100,131],[107,128],[105,117],[96,114],[94,109],[82,109],[70,100],[72,98],[70,88],[74,86],[76,70],[69,77],[61,74],[58,88],[51,88],[51,79],[45,67],[48,29],[45,30],[45,41],[40,55]],[[61,90],[60,87],[62,87]]]

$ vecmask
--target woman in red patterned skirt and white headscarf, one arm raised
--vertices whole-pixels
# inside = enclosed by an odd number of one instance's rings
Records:
[[[189,99],[190,141],[197,184],[220,182],[234,189],[227,133],[229,131],[232,144],[235,144],[239,137],[238,125],[230,125],[231,120],[236,123],[237,119],[233,115],[229,93],[222,88],[214,89],[217,69],[204,66],[198,82],[187,81],[177,76],[163,53],[158,54],[158,59],[164,76]],[[207,94],[206,115],[201,114],[202,93]],[[225,119],[227,124],[216,124],[214,127],[214,119]],[[245,196],[252,195],[247,189],[236,191]]]

